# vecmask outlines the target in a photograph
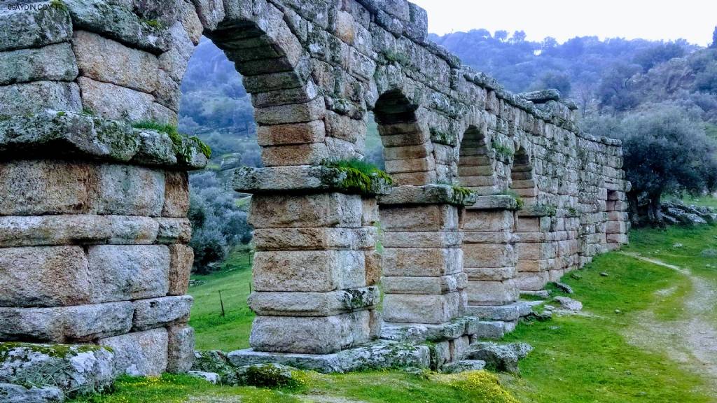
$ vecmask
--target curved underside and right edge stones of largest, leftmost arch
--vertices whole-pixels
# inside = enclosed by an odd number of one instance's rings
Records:
[[[224,51],[252,98],[257,142],[265,166],[319,165],[328,159],[323,97],[310,62],[282,12],[266,4],[261,14],[229,13],[204,35]],[[206,23],[205,23],[206,24]]]

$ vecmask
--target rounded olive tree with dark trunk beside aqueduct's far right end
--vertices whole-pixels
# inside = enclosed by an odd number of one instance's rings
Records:
[[[702,121],[675,105],[652,105],[622,118],[604,118],[594,134],[622,139],[632,221],[662,224],[663,194],[702,194],[717,189],[717,143]],[[602,132],[602,133],[601,133]],[[645,209],[641,209],[645,206]]]

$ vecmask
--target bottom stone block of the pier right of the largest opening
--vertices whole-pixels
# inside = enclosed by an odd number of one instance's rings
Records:
[[[369,311],[337,316],[257,316],[249,343],[257,351],[329,354],[369,341]]]

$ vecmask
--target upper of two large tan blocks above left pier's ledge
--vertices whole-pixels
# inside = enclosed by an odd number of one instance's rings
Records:
[[[153,54],[87,31],[75,31],[72,48],[80,75],[143,93],[156,90],[159,64]]]

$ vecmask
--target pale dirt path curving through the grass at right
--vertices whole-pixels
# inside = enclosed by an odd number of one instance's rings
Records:
[[[663,321],[652,310],[647,310],[637,316],[635,328],[626,334],[628,340],[644,349],[666,351],[670,358],[706,375],[717,389],[717,326],[708,318],[717,309],[717,287],[686,268],[633,253],[622,254],[669,267],[688,277],[692,283],[684,300],[682,318]],[[675,290],[675,287],[665,288],[656,294],[667,297]]]

